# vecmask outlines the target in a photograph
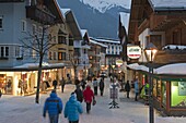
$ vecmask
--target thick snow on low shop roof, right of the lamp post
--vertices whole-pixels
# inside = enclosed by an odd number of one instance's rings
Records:
[[[186,75],[186,63],[167,64],[154,70],[156,74]]]

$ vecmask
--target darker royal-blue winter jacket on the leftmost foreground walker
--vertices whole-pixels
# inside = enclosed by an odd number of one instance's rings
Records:
[[[47,111],[49,115],[56,115],[62,111],[62,101],[54,91],[45,101],[43,115],[46,115]]]

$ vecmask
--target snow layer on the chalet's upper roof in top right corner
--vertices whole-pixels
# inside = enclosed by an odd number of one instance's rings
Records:
[[[186,10],[186,0],[150,0],[154,9],[182,9]]]

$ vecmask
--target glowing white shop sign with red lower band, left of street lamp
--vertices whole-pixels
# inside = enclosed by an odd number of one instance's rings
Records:
[[[138,59],[141,56],[141,48],[139,46],[127,46],[127,56],[130,59]]]

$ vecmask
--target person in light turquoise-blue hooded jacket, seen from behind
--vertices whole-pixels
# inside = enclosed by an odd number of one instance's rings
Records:
[[[75,94],[72,93],[66,103],[63,115],[68,118],[69,123],[79,123],[79,114],[83,113],[81,103],[77,100]]]

